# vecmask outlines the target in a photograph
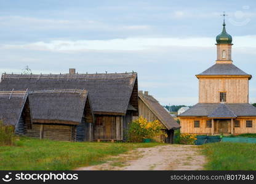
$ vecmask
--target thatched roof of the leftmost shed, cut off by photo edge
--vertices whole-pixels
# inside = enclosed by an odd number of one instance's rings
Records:
[[[0,120],[4,125],[18,124],[27,98],[27,91],[0,91]]]

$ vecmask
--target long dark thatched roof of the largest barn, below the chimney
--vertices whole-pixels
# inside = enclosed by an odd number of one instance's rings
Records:
[[[87,90],[94,113],[126,113],[136,73],[128,74],[2,74],[1,90]],[[132,104],[134,105],[134,104]],[[135,106],[134,106],[135,107]]]

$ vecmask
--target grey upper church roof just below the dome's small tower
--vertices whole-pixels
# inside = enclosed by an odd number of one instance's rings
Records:
[[[247,74],[246,72],[242,71],[238,67],[234,66],[234,64],[217,63],[198,75],[250,75],[250,74]]]

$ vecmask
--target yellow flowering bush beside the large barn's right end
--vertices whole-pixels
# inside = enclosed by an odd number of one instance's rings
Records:
[[[148,121],[146,118],[139,117],[129,124],[128,137],[130,142],[142,142],[143,139],[153,137],[167,137],[166,132],[162,131],[161,123],[158,120]]]

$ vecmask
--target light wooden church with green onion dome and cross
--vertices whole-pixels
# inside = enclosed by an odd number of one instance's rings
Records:
[[[181,132],[190,134],[256,133],[256,107],[249,104],[249,80],[252,75],[234,66],[231,59],[232,37],[216,37],[216,63],[196,75],[199,103],[179,115]]]

